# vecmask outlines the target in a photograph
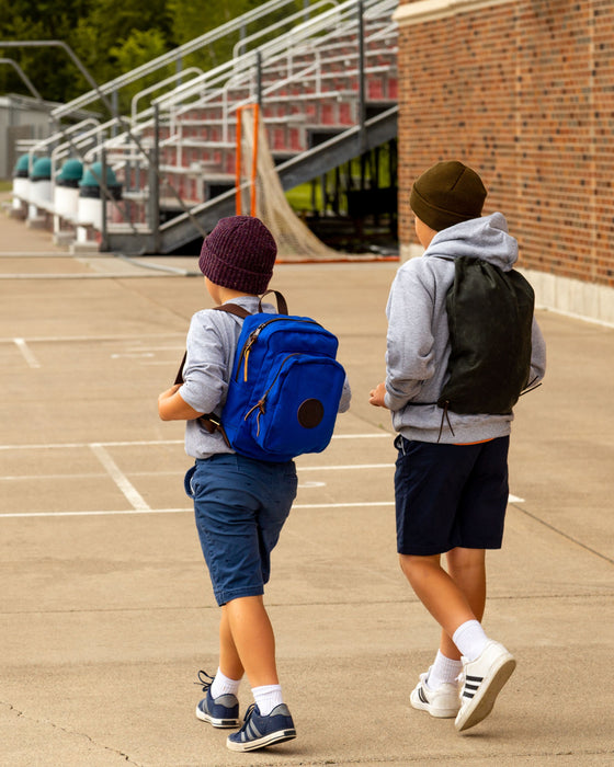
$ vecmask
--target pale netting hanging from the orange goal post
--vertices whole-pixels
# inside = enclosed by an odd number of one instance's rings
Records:
[[[240,213],[251,214],[253,190],[254,215],[271,230],[277,243],[278,257],[284,261],[311,259],[332,261],[343,257],[342,253],[325,245],[292,209],[275,170],[262,121],[254,119],[252,110],[241,111],[238,119],[240,119],[241,184],[240,197],[238,197]],[[258,125],[255,129],[254,123]],[[257,146],[254,146],[255,133],[258,133]],[[255,163],[253,162],[254,149]]]

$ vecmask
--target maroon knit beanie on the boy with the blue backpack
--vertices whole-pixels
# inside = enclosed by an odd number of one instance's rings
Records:
[[[277,245],[259,218],[220,218],[205,238],[198,266],[212,283],[254,296],[264,293],[273,276]]]

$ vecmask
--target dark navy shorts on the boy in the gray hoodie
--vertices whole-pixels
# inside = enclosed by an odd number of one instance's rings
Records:
[[[500,549],[510,437],[446,445],[397,436],[397,551],[431,557],[456,547]]]

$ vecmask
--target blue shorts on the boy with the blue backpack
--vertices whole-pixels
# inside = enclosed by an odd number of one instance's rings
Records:
[[[197,460],[185,474],[218,605],[264,594],[271,551],[296,486],[294,461],[269,463],[236,454]]]

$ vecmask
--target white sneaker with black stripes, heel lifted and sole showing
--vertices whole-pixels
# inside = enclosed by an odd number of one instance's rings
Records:
[[[461,732],[486,719],[494,700],[516,667],[514,656],[499,642],[490,640],[481,655],[463,667],[465,683],[461,694],[461,711],[454,726]]]

